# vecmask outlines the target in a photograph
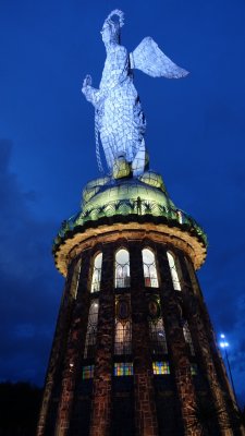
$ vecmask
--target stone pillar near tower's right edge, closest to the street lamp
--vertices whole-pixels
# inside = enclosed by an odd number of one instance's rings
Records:
[[[189,331],[192,335],[194,348],[199,356],[199,363],[209,384],[212,400],[217,409],[216,417],[219,423],[220,432],[222,435],[225,436],[233,435],[223,392],[220,388],[219,379],[213,364],[210,342],[206,334],[210,326],[204,324],[200,308],[200,299],[198,299],[198,296],[196,296],[192,291],[192,287],[189,286],[191,282],[188,281],[188,271],[182,256],[179,257],[179,261],[184,279],[183,302],[185,313],[187,315],[186,317],[189,326]],[[209,331],[209,334],[211,332]]]

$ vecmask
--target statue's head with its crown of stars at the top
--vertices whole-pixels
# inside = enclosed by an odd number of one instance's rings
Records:
[[[118,16],[118,20],[112,17]],[[105,44],[119,43],[120,41],[120,28],[123,26],[124,14],[119,9],[112,11],[108,17],[105,20],[101,35]]]

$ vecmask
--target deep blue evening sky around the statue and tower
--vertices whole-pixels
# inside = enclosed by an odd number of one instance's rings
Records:
[[[135,73],[150,166],[177,207],[205,228],[199,271],[217,334],[225,332],[245,403],[245,3],[243,0],[0,0],[0,379],[44,382],[63,279],[51,242],[99,175],[94,111],[99,31],[125,12],[122,44],[145,36],[191,74]]]

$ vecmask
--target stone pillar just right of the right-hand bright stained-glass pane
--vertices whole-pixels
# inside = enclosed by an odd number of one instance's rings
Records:
[[[160,270],[161,308],[164,319],[168,349],[174,368],[174,378],[181,404],[184,432],[185,435],[198,436],[201,435],[201,429],[194,416],[197,401],[181,324],[181,307],[177,301],[179,291],[173,289],[171,271],[164,247],[160,245],[158,246],[157,257]]]

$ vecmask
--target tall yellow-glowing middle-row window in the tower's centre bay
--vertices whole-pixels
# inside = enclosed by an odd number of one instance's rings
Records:
[[[115,299],[114,354],[131,354],[132,323],[130,295]]]

